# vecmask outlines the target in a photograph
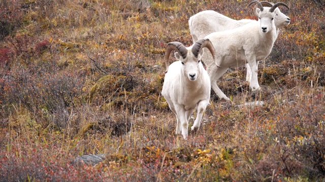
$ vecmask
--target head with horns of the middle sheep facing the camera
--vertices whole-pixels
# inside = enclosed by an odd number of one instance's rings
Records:
[[[258,15],[258,19],[261,23],[261,31],[263,33],[268,33],[269,31],[272,31],[274,24],[274,17],[280,13],[280,10],[277,8],[279,6],[285,6],[288,8],[288,6],[282,2],[278,2],[274,4],[270,9],[265,9],[261,2],[259,1],[252,1],[248,6],[252,4],[256,4],[258,8],[256,8],[256,14]]]

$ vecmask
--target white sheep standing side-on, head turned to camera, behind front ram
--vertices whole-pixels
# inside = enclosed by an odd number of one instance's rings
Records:
[[[253,1],[249,5],[253,3],[258,6],[256,9],[258,21],[205,36],[205,38],[210,39],[217,52],[217,61],[214,62],[209,54],[205,54],[202,60],[207,66],[212,89],[220,99],[230,100],[221,92],[216,81],[228,68],[243,66],[246,63],[251,68],[249,83],[251,90],[260,89],[257,80],[258,61],[271,53],[274,41],[277,38],[274,24],[274,17],[279,13],[277,7],[285,6],[288,8],[282,2],[274,4],[271,8],[264,8],[258,1]]]

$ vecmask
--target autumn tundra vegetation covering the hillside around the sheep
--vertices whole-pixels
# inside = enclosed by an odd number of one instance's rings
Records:
[[[166,45],[191,45],[204,10],[256,20],[249,2],[1,1],[0,181],[323,180],[325,3],[282,2],[291,22],[258,65],[263,92],[229,69],[233,103],[211,92],[183,140],[160,94]],[[101,162],[73,162],[84,155]]]

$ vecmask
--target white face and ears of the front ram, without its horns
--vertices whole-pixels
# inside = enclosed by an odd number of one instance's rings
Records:
[[[204,51],[201,50],[197,58],[192,55],[187,55],[184,59],[178,52],[175,52],[175,58],[182,63],[181,72],[188,80],[195,81],[198,79],[198,76],[201,75],[201,68],[203,68],[203,65],[200,60],[203,53]],[[187,54],[192,54],[192,52],[188,51]]]

